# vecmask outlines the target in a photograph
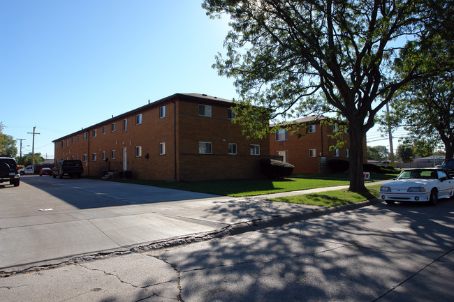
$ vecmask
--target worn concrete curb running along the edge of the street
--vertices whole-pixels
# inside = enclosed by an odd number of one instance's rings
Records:
[[[285,215],[272,216],[267,218],[259,218],[249,220],[245,222],[237,222],[222,229],[217,229],[212,232],[203,232],[190,234],[186,236],[177,236],[166,240],[153,241],[149,243],[141,243],[134,246],[124,246],[122,248],[116,248],[113,250],[104,250],[102,252],[94,252],[91,255],[72,255],[69,257],[50,259],[46,262],[40,262],[36,266],[29,266],[26,269],[20,269],[15,271],[0,271],[0,278],[9,277],[10,275],[18,275],[22,273],[31,273],[36,271],[42,271],[45,269],[56,269],[62,266],[80,264],[82,262],[93,261],[96,259],[105,259],[108,257],[115,257],[119,255],[127,255],[131,253],[147,252],[150,250],[159,250],[161,248],[171,248],[175,246],[183,246],[190,243],[197,243],[202,241],[208,241],[211,239],[220,239],[225,236],[234,236],[237,234],[244,234],[247,232],[254,232],[259,229],[265,229],[268,227],[279,227],[292,222],[299,222],[302,220],[308,220],[311,218],[318,218],[321,216],[329,215],[332,213],[339,213],[344,211],[351,211],[360,209],[365,206],[373,204],[379,204],[382,201],[380,199],[367,200],[365,202],[358,202],[355,204],[345,204],[342,206],[332,206],[329,208],[314,209],[309,211],[298,211],[288,213]],[[58,262],[57,262],[58,261]],[[53,262],[53,263],[52,263]],[[57,263],[55,263],[57,262]]]

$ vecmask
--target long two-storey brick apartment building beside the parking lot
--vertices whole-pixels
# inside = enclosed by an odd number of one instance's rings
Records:
[[[198,93],[157,100],[55,139],[56,160],[79,159],[85,175],[107,171],[136,179],[197,181],[262,177],[266,139],[245,139],[232,101]]]

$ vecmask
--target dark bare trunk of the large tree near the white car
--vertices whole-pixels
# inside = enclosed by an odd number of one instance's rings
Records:
[[[363,138],[362,125],[350,123],[350,188],[352,192],[365,192],[363,176]]]

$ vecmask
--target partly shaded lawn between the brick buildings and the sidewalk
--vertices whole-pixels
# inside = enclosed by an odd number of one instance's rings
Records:
[[[388,176],[393,179],[395,175]],[[374,178],[374,175],[372,176]],[[145,186],[156,186],[161,188],[172,188],[193,192],[203,192],[214,195],[231,197],[255,196],[278,192],[289,192],[295,190],[307,190],[332,186],[348,186],[349,177],[346,174],[305,176],[295,175],[290,179],[272,181],[268,179],[234,179],[216,181],[193,181],[180,183],[176,181],[151,181],[142,179],[113,180],[126,183],[136,183]]]

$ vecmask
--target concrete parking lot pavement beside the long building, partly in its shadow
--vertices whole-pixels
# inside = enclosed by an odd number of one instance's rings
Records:
[[[318,208],[50,176],[0,186],[0,206],[0,271]]]

